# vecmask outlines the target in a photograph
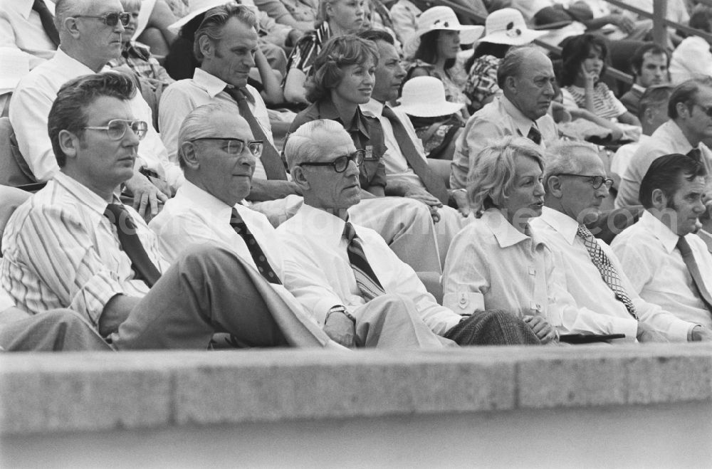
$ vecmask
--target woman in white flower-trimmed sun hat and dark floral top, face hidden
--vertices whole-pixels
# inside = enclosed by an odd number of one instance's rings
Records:
[[[468,71],[465,94],[470,98],[471,111],[480,109],[500,92],[497,68],[513,46],[524,46],[549,31],[527,28],[520,11],[503,8],[493,11],[485,21],[485,36],[477,41],[475,52],[465,63]]]

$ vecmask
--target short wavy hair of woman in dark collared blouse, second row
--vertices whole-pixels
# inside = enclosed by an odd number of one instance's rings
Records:
[[[366,63],[373,60],[378,63],[378,50],[375,43],[367,41],[354,34],[335,36],[324,44],[319,55],[314,59],[306,98],[317,102],[328,98],[332,88],[336,88],[344,78],[343,67]]]

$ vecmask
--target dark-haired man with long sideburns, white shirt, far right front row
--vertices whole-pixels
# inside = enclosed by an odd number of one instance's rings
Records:
[[[681,154],[659,157],[640,188],[645,212],[611,245],[635,293],[681,320],[712,329],[712,255],[693,234],[705,212],[706,169]],[[705,332],[707,338],[711,337]]]

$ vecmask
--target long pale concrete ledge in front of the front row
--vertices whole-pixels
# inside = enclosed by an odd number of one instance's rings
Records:
[[[712,345],[2,354],[4,436],[712,401]]]

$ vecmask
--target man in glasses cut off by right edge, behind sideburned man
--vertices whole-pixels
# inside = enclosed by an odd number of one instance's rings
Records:
[[[642,142],[630,159],[620,182],[615,207],[639,204],[640,182],[650,164],[664,154],[688,154],[707,169],[712,184],[712,151],[703,143],[712,137],[712,79],[677,85],[668,102],[669,120]]]

